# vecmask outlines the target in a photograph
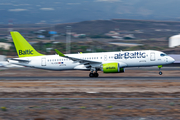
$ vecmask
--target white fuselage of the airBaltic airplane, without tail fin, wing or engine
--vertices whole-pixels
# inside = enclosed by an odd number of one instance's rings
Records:
[[[94,61],[91,67],[100,68],[104,63],[117,62],[121,67],[142,67],[171,64],[174,59],[165,55],[163,52],[154,50],[142,51],[119,51],[102,53],[83,53],[83,54],[65,54],[65,56],[78,58],[87,61]],[[49,70],[89,70],[88,63],[73,61],[59,55],[45,55],[35,57],[17,58],[28,60],[29,62],[20,62],[9,60],[10,63]]]

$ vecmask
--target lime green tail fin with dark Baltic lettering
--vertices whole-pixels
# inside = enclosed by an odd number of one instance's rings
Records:
[[[12,31],[11,36],[19,57],[43,56],[43,54],[38,53],[19,32]]]

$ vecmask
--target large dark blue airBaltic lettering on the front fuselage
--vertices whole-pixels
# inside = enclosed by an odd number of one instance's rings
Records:
[[[115,54],[114,59],[133,59],[133,58],[146,58],[145,52],[125,52]]]

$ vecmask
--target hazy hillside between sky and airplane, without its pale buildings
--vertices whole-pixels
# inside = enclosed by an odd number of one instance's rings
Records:
[[[7,32],[8,26],[1,25],[0,33],[2,36],[9,35]],[[65,53],[65,42],[66,42],[66,26],[71,26],[71,31],[77,34],[86,34],[85,38],[74,38],[72,37],[71,48],[72,53],[91,52],[87,51],[119,51],[119,50],[145,50],[153,49],[165,51],[168,54],[179,54],[179,48],[169,49],[168,38],[172,35],[180,33],[180,22],[173,21],[148,21],[148,20],[128,20],[128,19],[112,19],[112,20],[94,20],[94,21],[83,21],[77,23],[66,23],[56,25],[35,25],[35,24],[17,24],[14,25],[14,30],[19,31],[29,42],[36,42],[33,46],[42,53],[54,54],[52,52],[46,52],[46,48],[59,48]],[[54,30],[57,31],[58,37],[56,37],[57,45],[49,40],[50,37],[44,39],[37,39],[38,30]],[[104,36],[106,33],[114,31],[123,34],[133,34],[135,39],[113,39],[113,38],[92,38],[91,36]],[[40,47],[39,43],[43,42],[43,48]],[[50,42],[50,43],[47,43]],[[129,47],[129,46],[116,46],[110,45],[109,42],[124,42],[124,43],[136,43],[143,44],[143,46]],[[46,44],[47,43],[47,44]],[[77,47],[78,46],[78,47]],[[15,51],[12,47],[11,51]],[[7,52],[8,55],[9,52]],[[13,52],[15,55],[16,52]],[[3,53],[2,53],[3,54]]]

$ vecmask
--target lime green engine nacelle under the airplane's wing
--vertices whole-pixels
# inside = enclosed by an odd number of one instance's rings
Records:
[[[105,63],[102,66],[104,73],[123,73],[125,70],[121,68],[119,63]]]

